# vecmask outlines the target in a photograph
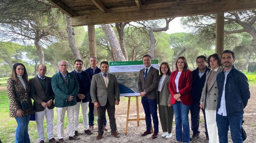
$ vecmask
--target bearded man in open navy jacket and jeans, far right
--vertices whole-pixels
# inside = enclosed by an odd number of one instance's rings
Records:
[[[224,69],[217,75],[219,96],[216,114],[219,141],[228,142],[230,128],[232,141],[243,143],[241,124],[250,98],[249,84],[247,77],[234,67],[234,52],[225,50],[221,58]]]

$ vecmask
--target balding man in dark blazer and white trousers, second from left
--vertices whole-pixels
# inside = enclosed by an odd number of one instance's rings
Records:
[[[51,77],[45,76],[46,66],[40,64],[37,66],[38,75],[29,80],[30,97],[34,100],[37,134],[40,143],[44,143],[44,116],[47,122],[47,135],[49,142],[55,143],[53,136],[53,117],[54,117],[54,92],[51,84]]]

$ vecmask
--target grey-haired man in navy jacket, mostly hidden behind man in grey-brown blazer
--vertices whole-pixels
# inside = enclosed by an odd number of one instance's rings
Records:
[[[90,57],[90,65],[91,67],[89,67],[88,69],[85,70],[85,72],[89,73],[90,75],[90,78],[92,80],[92,76],[97,74],[97,73],[100,73],[101,70],[100,68],[97,67],[97,63],[98,63],[98,60],[95,56],[91,56]],[[90,96],[90,101],[89,101],[89,130],[92,131],[92,129],[94,128],[94,103],[92,103],[92,98],[91,98],[91,95]],[[104,131],[107,131],[107,120],[106,120],[106,116],[105,116],[105,119],[104,119]]]

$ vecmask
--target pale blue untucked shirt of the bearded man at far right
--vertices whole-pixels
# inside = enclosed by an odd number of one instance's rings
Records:
[[[227,116],[226,100],[225,100],[225,85],[226,85],[227,76],[228,76],[230,71],[231,71],[231,69],[229,69],[227,72],[225,72],[225,69],[223,70],[223,72],[225,74],[225,80],[224,80],[224,84],[223,84],[223,91],[222,91],[222,96],[221,96],[220,108],[217,112],[219,115],[222,115],[222,116]]]

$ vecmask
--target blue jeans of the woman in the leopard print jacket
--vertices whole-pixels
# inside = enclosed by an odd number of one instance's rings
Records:
[[[30,115],[23,117],[15,117],[17,128],[15,132],[15,143],[30,143],[28,135],[28,123]]]

